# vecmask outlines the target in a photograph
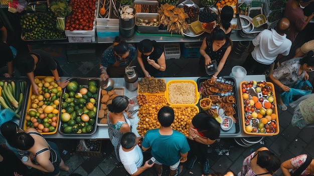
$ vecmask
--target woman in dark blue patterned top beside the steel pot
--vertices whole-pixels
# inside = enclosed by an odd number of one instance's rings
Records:
[[[113,45],[108,47],[102,54],[102,59],[99,64],[101,72],[100,78],[103,80],[109,77],[124,77],[125,67],[127,67],[132,60],[135,60],[137,52],[135,47],[127,44],[116,36]]]

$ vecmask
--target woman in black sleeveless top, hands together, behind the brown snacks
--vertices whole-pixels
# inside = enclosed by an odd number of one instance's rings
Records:
[[[166,71],[166,58],[163,48],[149,39],[139,42],[137,61],[145,77],[163,77]]]

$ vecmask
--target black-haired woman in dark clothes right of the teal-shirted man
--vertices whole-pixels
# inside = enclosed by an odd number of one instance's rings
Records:
[[[189,125],[190,155],[193,157],[187,168],[191,169],[198,159],[202,164],[204,175],[209,175],[209,160],[207,158],[207,146],[213,144],[220,135],[220,124],[205,112],[198,113]],[[189,155],[189,156],[190,156]]]

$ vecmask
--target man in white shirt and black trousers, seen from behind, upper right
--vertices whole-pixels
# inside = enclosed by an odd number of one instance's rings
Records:
[[[282,18],[278,21],[275,30],[265,29],[253,39],[252,44],[255,48],[243,63],[248,75],[263,74],[276,59],[289,54],[292,43],[285,34],[289,26],[289,20]]]

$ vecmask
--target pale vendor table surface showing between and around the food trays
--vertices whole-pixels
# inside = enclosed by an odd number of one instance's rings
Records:
[[[163,78],[165,79],[166,83],[170,80],[193,80],[197,81],[199,77],[168,77],[168,78]],[[62,78],[64,80],[66,78]],[[125,87],[125,81],[124,78],[112,78],[114,80],[114,86],[115,87]],[[241,79],[236,79],[236,86],[238,89],[240,89],[238,86],[241,81],[251,81],[251,80],[266,80],[265,75],[248,75],[245,76],[242,80]],[[241,91],[238,91],[238,97],[240,97]],[[137,91],[128,91],[126,88],[124,89],[124,95],[131,98],[133,96],[137,96]],[[240,100],[238,98],[238,104],[240,104]],[[239,114],[242,114],[242,108],[239,108],[240,112]],[[135,119],[130,119],[131,123],[137,123]],[[239,121],[237,123],[242,124],[242,118],[239,117]],[[134,126],[134,125],[133,125]],[[135,132],[136,128],[132,128],[132,131]],[[137,133],[137,131],[136,131]],[[259,135],[260,136],[260,135]],[[49,134],[49,135],[44,135],[45,138],[68,138],[68,139],[108,139],[109,134],[108,134],[108,126],[97,126],[97,130],[94,134],[91,135],[80,135],[80,134],[75,134],[75,135],[63,135],[60,133],[55,133],[55,134]],[[254,135],[249,135],[243,132],[243,129],[241,130],[241,133],[237,136],[220,136],[224,138],[229,138],[229,137],[254,137]]]

